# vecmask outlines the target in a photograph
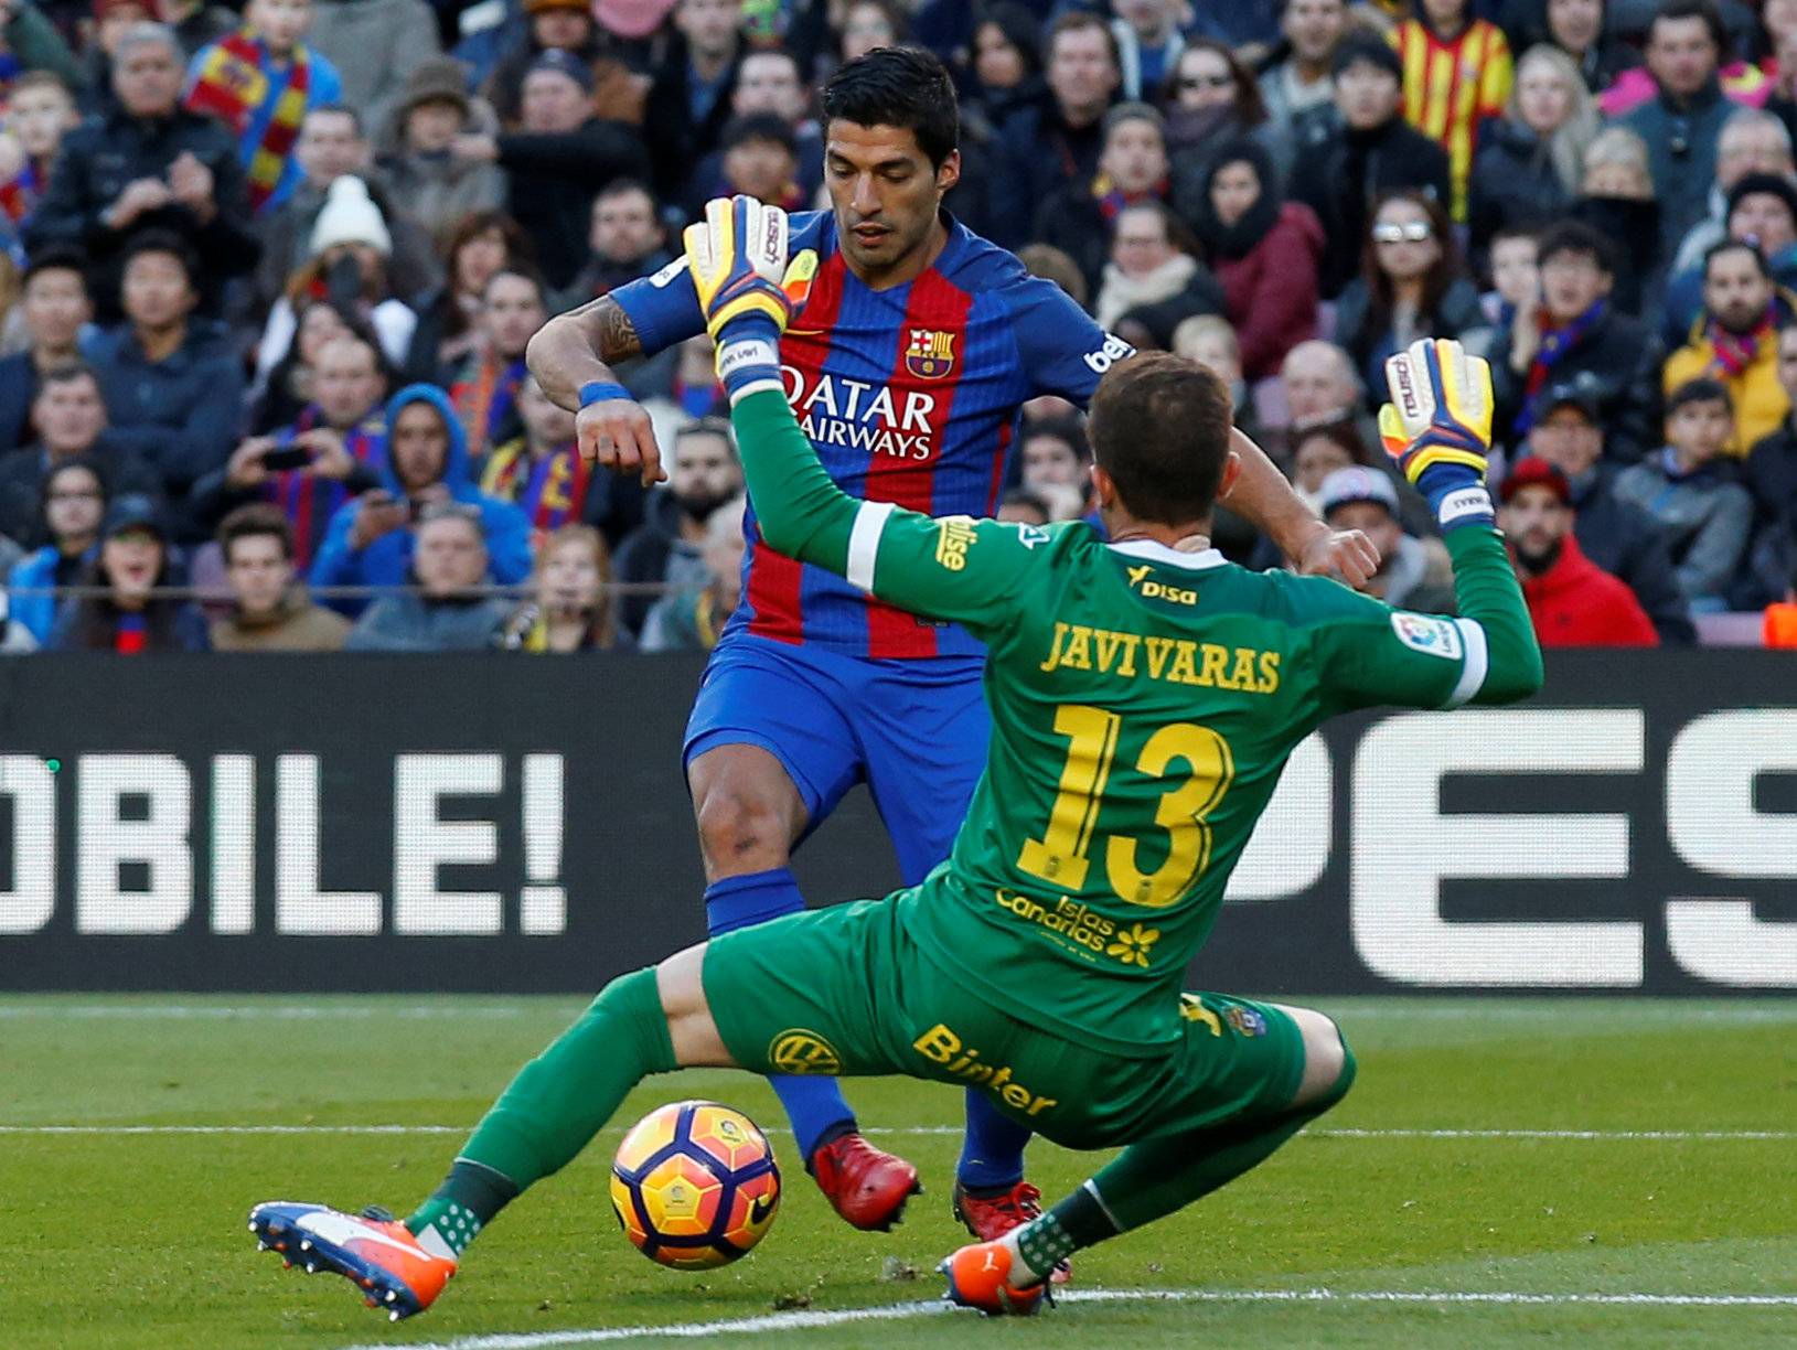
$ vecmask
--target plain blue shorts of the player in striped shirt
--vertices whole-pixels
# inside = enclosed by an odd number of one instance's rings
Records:
[[[798,787],[807,832],[864,782],[913,886],[949,856],[987,764],[983,669],[978,656],[873,662],[733,635],[704,667],[683,764],[760,746]]]

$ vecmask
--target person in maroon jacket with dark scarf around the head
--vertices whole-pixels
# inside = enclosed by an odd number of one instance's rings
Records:
[[[1285,354],[1317,336],[1323,225],[1310,207],[1285,201],[1272,155],[1236,140],[1209,160],[1199,191],[1175,187],[1204,261],[1222,282],[1249,383],[1279,374]]]

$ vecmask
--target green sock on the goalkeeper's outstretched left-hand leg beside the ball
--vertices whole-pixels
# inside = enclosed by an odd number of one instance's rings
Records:
[[[631,1088],[672,1068],[654,969],[613,980],[519,1070],[406,1228],[426,1248],[460,1255],[507,1203],[573,1161]]]

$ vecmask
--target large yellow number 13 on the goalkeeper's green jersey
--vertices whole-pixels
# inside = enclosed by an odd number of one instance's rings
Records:
[[[1118,751],[1123,719],[1105,708],[1062,703],[1055,708],[1055,733],[1067,737],[1067,762],[1060,769],[1055,805],[1048,813],[1048,830],[1040,839],[1026,839],[1017,854],[1017,868],[1066,890],[1080,890],[1091,868],[1087,856],[1098,807],[1111,782],[1111,762]],[[1150,910],[1175,904],[1211,861],[1211,827],[1206,816],[1217,809],[1235,777],[1229,742],[1208,726],[1168,723],[1141,748],[1136,773],[1164,778],[1182,762],[1186,777],[1161,796],[1154,823],[1166,830],[1166,861],[1143,870],[1141,839],[1112,834],[1105,839],[1105,875],[1118,899]]]

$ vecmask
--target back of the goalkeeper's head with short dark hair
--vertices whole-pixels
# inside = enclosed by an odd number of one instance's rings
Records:
[[[1098,467],[1130,516],[1190,525],[1209,516],[1229,458],[1229,386],[1172,352],[1118,361],[1093,394]]]

